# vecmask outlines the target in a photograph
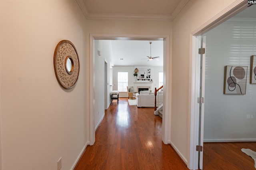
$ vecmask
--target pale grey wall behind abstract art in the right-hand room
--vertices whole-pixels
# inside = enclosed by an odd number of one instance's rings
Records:
[[[256,20],[255,20],[256,21]],[[256,85],[250,56],[256,55],[256,22],[225,23],[207,32],[204,141],[256,141]],[[225,65],[248,66],[246,95],[224,95]]]

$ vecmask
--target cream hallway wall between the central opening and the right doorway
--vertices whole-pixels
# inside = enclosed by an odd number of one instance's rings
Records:
[[[172,22],[172,100],[170,143],[189,160],[192,35],[196,29],[214,18],[236,0],[190,0]],[[190,164],[190,162],[188,162]]]

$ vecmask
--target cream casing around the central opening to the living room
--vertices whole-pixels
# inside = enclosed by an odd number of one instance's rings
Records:
[[[89,75],[90,75],[90,87],[88,90],[90,91],[90,100],[89,100],[89,138],[90,145],[93,145],[95,142],[95,71],[94,71],[94,40],[152,40],[157,41],[161,40],[164,44],[164,86],[168,88],[164,88],[164,96],[163,103],[166,103],[163,106],[163,121],[162,121],[162,141],[164,144],[170,143],[170,97],[171,97],[171,61],[170,61],[170,35],[109,35],[109,34],[90,34],[90,57],[89,57]]]

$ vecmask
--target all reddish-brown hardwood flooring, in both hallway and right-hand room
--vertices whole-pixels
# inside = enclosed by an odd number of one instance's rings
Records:
[[[162,119],[154,108],[119,99],[105,112],[94,145],[87,146],[75,170],[188,170],[172,147],[163,144]],[[242,148],[256,151],[256,143],[204,143],[203,170],[255,170]]]

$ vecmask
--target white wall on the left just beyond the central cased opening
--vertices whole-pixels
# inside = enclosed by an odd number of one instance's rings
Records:
[[[107,76],[107,106],[110,105],[110,91],[112,91],[112,87],[110,86],[110,63],[111,63],[111,56],[112,56],[112,47],[111,41],[106,40],[95,40],[95,51],[94,51],[94,59],[95,59],[95,130],[100,124],[101,120],[105,115],[105,61],[107,61],[107,69],[108,69],[108,76]],[[100,56],[98,55],[98,51],[100,51]]]

